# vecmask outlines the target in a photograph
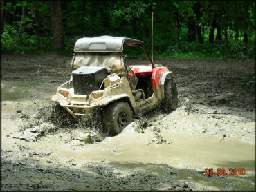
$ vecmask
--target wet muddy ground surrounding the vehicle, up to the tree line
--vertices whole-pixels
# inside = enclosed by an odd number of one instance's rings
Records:
[[[107,137],[49,120],[71,58],[1,55],[1,191],[255,190],[255,90],[242,86],[253,61],[154,59],[173,71],[179,108]],[[205,175],[210,168],[246,172]]]

